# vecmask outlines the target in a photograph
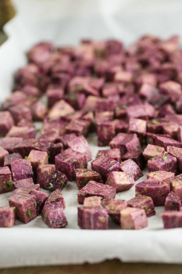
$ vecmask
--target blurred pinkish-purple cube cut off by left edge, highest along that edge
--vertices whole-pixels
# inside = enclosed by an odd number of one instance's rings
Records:
[[[5,136],[11,127],[14,125],[14,120],[9,111],[0,112],[0,136]]]

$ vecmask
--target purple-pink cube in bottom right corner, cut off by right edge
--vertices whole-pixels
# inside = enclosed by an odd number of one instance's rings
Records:
[[[164,223],[164,228],[182,227],[182,212],[181,211],[164,211],[161,213]]]

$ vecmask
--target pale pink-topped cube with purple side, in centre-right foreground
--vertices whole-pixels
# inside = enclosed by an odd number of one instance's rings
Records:
[[[116,192],[120,192],[130,189],[135,181],[127,172],[112,171],[109,173],[105,184],[116,188]]]

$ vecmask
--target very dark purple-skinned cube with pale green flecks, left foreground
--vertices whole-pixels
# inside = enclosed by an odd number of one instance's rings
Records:
[[[50,191],[54,191],[58,188],[60,191],[62,191],[63,188],[66,186],[67,182],[68,179],[66,175],[64,175],[58,170],[52,170],[51,174],[49,175],[47,181],[44,184],[44,188]]]

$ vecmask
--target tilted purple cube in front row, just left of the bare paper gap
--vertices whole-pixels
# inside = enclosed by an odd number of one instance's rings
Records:
[[[68,225],[59,203],[45,204],[41,215],[44,223],[50,228],[62,228]]]

